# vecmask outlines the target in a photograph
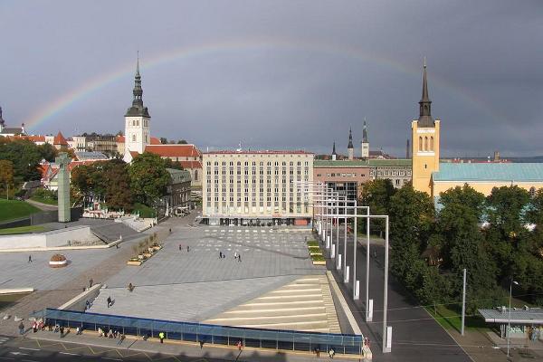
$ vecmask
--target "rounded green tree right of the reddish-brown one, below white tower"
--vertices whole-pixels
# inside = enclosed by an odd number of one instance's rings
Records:
[[[159,156],[144,152],[132,160],[129,166],[130,186],[138,202],[155,205],[166,195],[170,176],[165,161]]]

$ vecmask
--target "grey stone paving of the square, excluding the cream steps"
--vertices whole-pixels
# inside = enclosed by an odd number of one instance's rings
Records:
[[[201,321],[301,275],[326,272],[310,260],[308,229],[167,224],[173,227],[164,248],[143,265],[112,275],[91,312]],[[132,292],[129,283],[136,286]],[[115,300],[110,308],[108,297]]]

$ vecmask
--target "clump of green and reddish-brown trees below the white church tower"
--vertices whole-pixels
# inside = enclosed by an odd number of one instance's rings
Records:
[[[71,186],[84,199],[100,200],[110,209],[131,211],[135,203],[154,206],[166,195],[167,168],[177,162],[145,152],[130,164],[121,159],[81,165],[71,171]]]

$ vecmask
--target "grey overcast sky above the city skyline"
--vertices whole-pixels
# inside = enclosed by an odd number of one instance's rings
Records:
[[[139,50],[157,137],[405,155],[428,59],[444,156],[543,155],[543,2],[0,2],[8,125],[124,130]]]

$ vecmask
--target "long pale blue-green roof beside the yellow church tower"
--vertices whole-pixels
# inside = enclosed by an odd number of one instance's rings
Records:
[[[543,163],[441,163],[433,181],[543,182]]]

